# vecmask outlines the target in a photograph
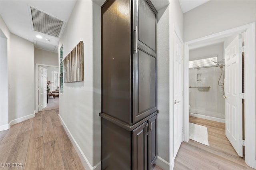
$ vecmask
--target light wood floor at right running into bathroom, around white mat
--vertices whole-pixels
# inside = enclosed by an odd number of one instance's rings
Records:
[[[189,117],[189,122],[206,126],[209,146],[194,140],[182,142],[175,158],[174,170],[253,170],[225,136],[225,124]]]

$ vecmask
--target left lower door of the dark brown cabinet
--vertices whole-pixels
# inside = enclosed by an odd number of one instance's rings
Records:
[[[145,122],[132,131],[133,137],[133,170],[147,170],[148,157],[148,123]]]

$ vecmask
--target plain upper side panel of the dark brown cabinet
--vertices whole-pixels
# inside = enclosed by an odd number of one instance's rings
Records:
[[[130,1],[102,6],[102,112],[131,124]]]

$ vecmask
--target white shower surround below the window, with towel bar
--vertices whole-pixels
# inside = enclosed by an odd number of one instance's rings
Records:
[[[197,82],[196,78],[198,74],[202,75],[201,82]],[[204,117],[205,119],[221,122],[224,121],[225,99],[222,97],[223,89],[221,88],[223,86],[218,86],[218,79],[220,78],[220,74],[220,67],[189,70],[189,86],[210,86],[208,91],[198,91],[197,88],[189,88],[189,105],[191,106],[190,113],[206,116]]]

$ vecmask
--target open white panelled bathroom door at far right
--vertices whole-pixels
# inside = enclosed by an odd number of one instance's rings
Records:
[[[226,136],[239,156],[243,156],[242,142],[242,34],[225,49],[226,60]]]

